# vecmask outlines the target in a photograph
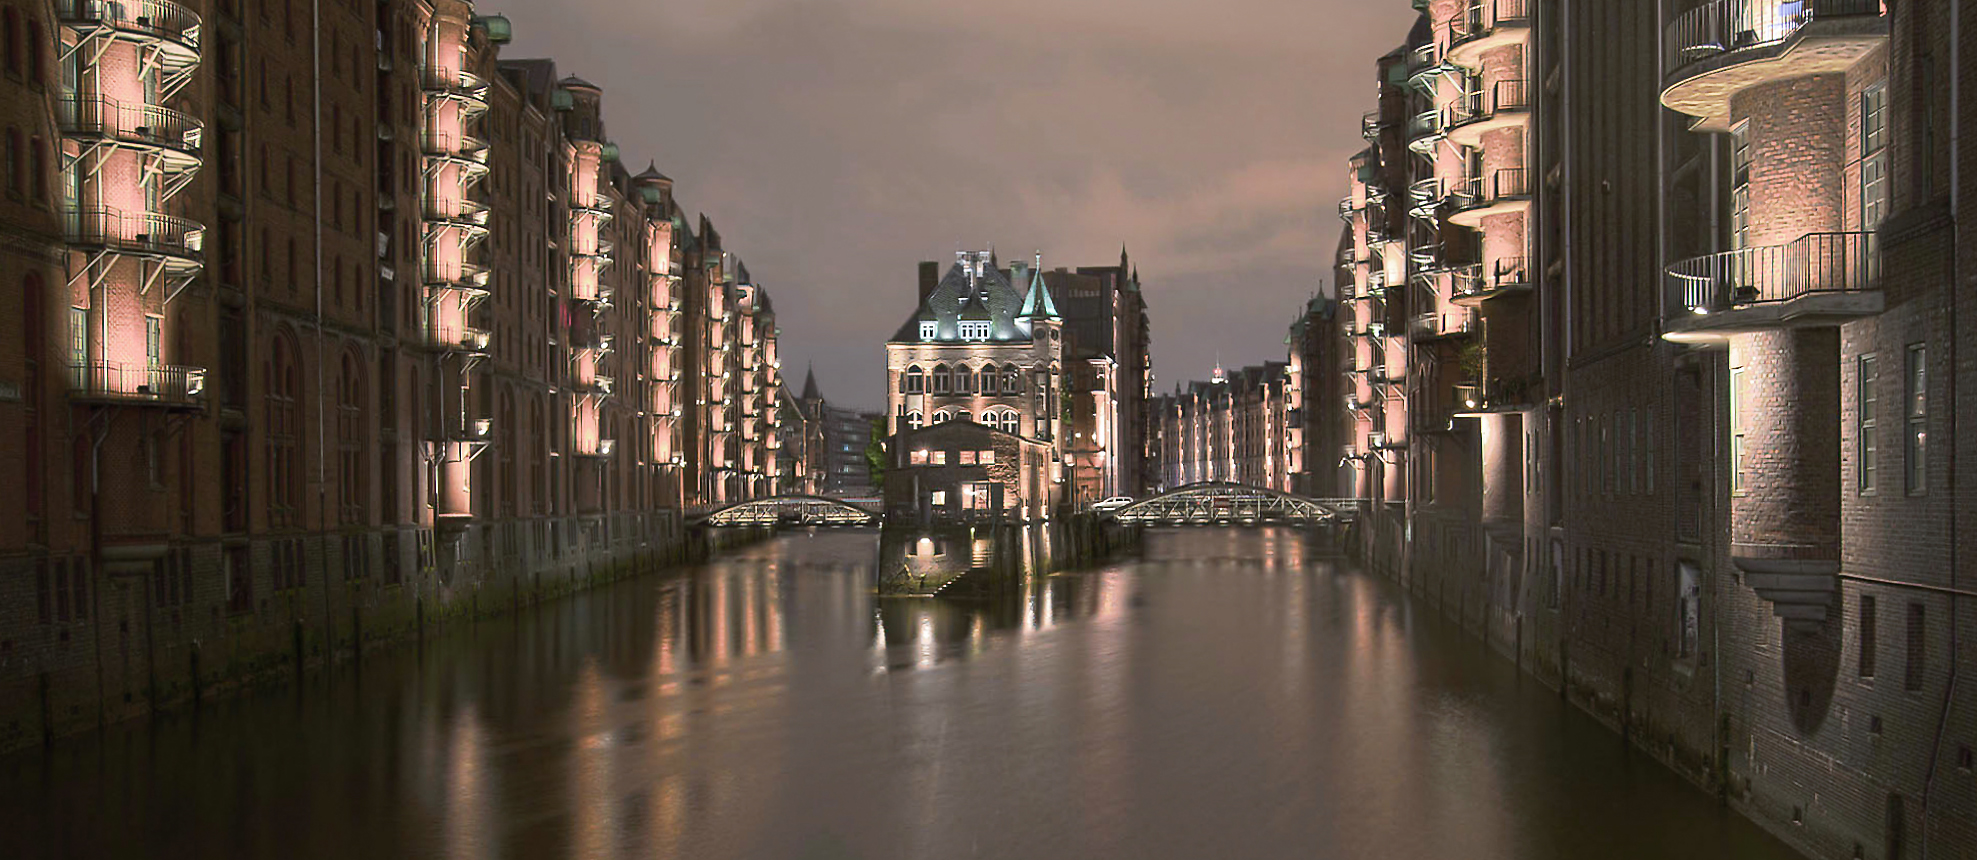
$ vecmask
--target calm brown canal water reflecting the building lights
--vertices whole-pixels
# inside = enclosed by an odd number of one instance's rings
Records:
[[[1295,532],[971,599],[876,597],[878,544],[0,759],[0,856],[1793,856]]]

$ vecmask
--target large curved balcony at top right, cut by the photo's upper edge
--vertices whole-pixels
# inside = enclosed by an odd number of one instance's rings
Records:
[[[1728,132],[1744,89],[1841,73],[1886,42],[1882,0],[1716,0],[1669,22],[1661,103]]]

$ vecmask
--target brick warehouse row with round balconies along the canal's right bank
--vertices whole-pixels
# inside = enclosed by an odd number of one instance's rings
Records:
[[[1360,556],[1807,854],[1977,854],[1977,4],[1416,8],[1340,206]]]

